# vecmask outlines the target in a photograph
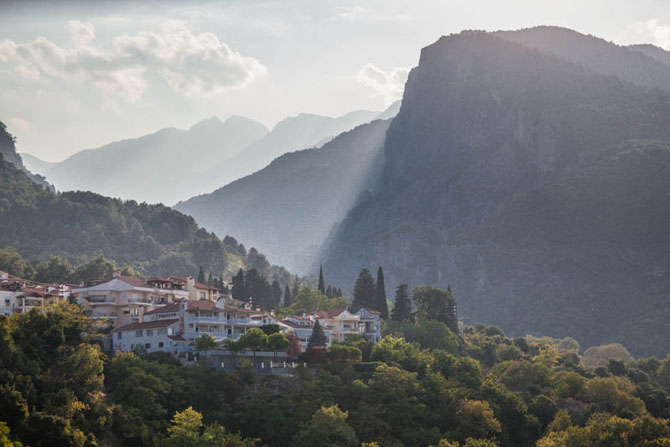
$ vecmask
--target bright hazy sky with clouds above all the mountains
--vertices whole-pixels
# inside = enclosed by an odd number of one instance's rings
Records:
[[[383,110],[440,36],[536,25],[670,49],[667,0],[5,0],[0,121],[59,161],[214,115]]]

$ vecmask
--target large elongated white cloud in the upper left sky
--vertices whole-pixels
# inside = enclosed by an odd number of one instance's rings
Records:
[[[265,67],[230,49],[209,32],[194,34],[180,22],[158,31],[116,36],[111,45],[96,42],[95,27],[70,21],[74,46],[62,47],[39,36],[28,43],[0,42],[0,62],[13,63],[28,79],[90,82],[103,94],[103,104],[137,102],[157,75],[185,96],[207,96],[243,88]]]

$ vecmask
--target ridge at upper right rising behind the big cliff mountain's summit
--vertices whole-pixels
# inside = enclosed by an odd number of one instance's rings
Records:
[[[617,76],[644,87],[670,90],[670,65],[639,48],[624,47],[566,28],[538,26],[501,31],[497,36],[552,53],[596,73]]]

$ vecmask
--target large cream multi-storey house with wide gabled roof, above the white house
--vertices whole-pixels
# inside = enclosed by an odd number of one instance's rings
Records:
[[[72,290],[86,315],[99,325],[139,323],[145,311],[187,299],[185,283],[164,278],[115,275]]]

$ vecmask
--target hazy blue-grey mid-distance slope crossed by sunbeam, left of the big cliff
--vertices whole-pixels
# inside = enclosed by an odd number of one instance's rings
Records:
[[[282,155],[264,169],[175,206],[217,234],[235,234],[273,260],[305,269],[333,225],[376,180],[389,121],[373,121],[320,149]]]

